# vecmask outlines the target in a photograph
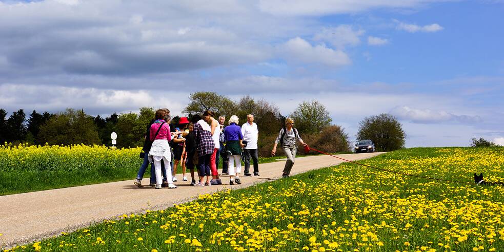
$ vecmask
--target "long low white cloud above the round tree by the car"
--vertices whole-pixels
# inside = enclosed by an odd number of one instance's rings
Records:
[[[479,116],[456,115],[442,110],[413,109],[407,106],[395,107],[390,113],[400,119],[417,123],[457,122],[471,124],[481,121]]]

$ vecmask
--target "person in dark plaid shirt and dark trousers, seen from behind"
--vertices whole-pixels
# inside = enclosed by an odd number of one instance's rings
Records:
[[[205,114],[206,113],[206,114]],[[203,115],[207,116],[208,113],[205,112]],[[199,115],[194,116],[197,122],[194,124],[194,140],[197,145],[197,155],[198,155],[198,175],[199,182],[195,184],[196,186],[210,185],[210,157],[215,149],[215,142],[212,138],[212,129],[210,125],[200,119]],[[205,176],[207,181],[205,182]]]

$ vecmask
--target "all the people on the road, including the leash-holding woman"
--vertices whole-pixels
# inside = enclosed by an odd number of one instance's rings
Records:
[[[259,131],[253,115],[247,115],[247,122],[239,126],[236,115],[230,117],[225,126],[225,116],[214,118],[215,113],[206,111],[194,115],[189,120],[180,118],[177,125],[171,124],[170,110],[159,109],[149,123],[145,142],[140,153],[143,158],[134,184],[143,187],[142,179],[151,164],[150,186],[177,188],[177,166],[182,166],[183,181],[188,181],[186,170],[191,175],[191,185],[208,186],[223,184],[220,175],[229,175],[229,184],[241,184],[241,160],[245,159],[244,176],[259,176],[257,141]],[[176,126],[176,127],[175,127]],[[296,140],[306,145],[294,128],[294,120],[286,119],[286,125],[280,129],[272,155],[276,154],[277,144],[283,147],[287,162],[282,176],[289,177],[297,152]],[[221,174],[217,169],[219,159],[223,160]],[[251,161],[253,174],[250,173]],[[196,167],[198,180],[194,169]]]

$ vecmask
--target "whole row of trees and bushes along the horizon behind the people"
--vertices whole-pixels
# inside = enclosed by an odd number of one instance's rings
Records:
[[[206,110],[224,115],[229,119],[237,115],[240,124],[246,122],[248,114],[254,115],[259,129],[259,155],[267,156],[272,149],[278,131],[284,127],[286,117],[292,117],[295,128],[310,146],[326,152],[345,152],[352,149],[348,134],[339,125],[332,124],[324,104],[317,100],[303,101],[288,115],[282,115],[279,108],[265,99],[254,99],[246,95],[237,101],[215,92],[195,92],[182,111],[191,117]],[[49,113],[33,111],[27,118],[24,110],[7,112],[0,109],[0,143],[12,142],[29,144],[105,144],[111,145],[110,133],[117,133],[117,147],[141,146],[148,123],[154,118],[154,108],[143,107],[139,113],[113,113],[108,117],[91,116],[83,109],[66,109]],[[172,118],[172,126],[179,116]],[[379,122],[379,123],[377,123]],[[225,122],[227,124],[227,121]],[[397,119],[388,114],[368,117],[359,124],[357,140],[371,139],[377,150],[390,151],[404,147],[404,131]],[[381,140],[380,140],[381,139]]]

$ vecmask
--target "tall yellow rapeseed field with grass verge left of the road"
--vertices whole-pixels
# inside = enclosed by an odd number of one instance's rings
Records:
[[[0,145],[0,196],[135,179],[142,148],[104,145]],[[259,163],[278,158],[259,158]],[[182,173],[182,168],[178,168]],[[149,177],[146,172],[145,178]]]

